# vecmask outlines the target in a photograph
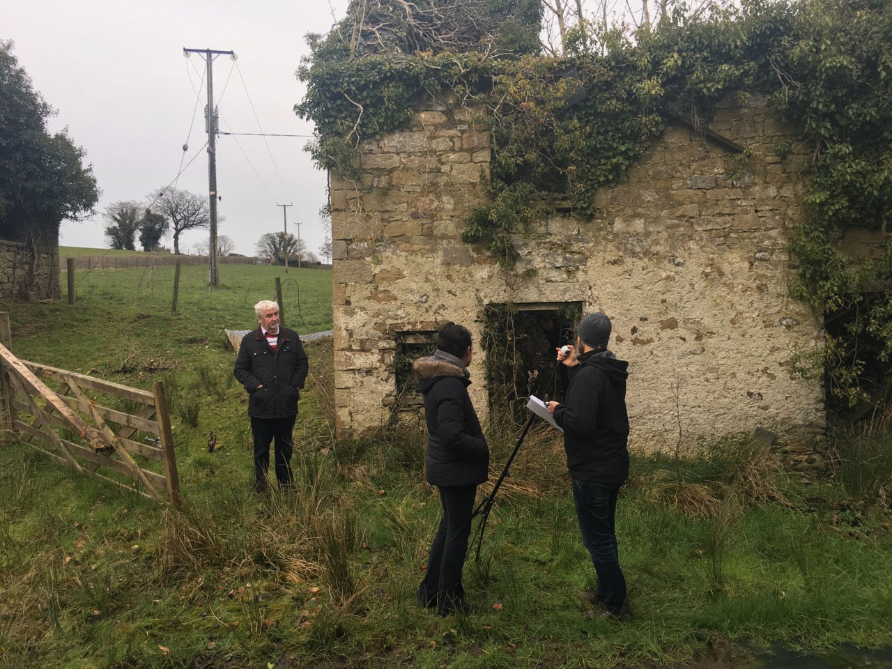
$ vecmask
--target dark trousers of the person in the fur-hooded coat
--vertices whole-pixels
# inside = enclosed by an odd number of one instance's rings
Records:
[[[434,535],[425,579],[418,588],[418,602],[426,607],[436,604],[437,613],[448,615],[462,605],[465,597],[461,570],[467,555],[477,486],[442,485],[439,491],[443,517]]]

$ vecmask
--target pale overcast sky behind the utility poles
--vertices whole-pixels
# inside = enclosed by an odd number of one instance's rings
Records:
[[[0,0],[0,39],[15,43],[12,53],[58,111],[50,130],[69,128],[74,142],[86,150],[102,189],[96,215],[64,222],[60,244],[106,247],[103,209],[120,200],[145,200],[177,176],[204,70],[202,56],[186,59],[184,47],[231,50],[238,56],[237,69],[225,55],[214,62],[220,130],[260,132],[246,87],[264,132],[310,135],[312,126],[293,112],[304,90],[294,71],[301,55],[309,53],[303,36],[326,32],[334,22],[333,9],[341,18],[346,4]],[[206,95],[202,88],[183,164],[197,157],[178,181],[179,188],[199,194],[207,194],[208,188],[207,153],[202,150]],[[282,229],[277,203],[293,202],[287,210],[288,230],[296,233],[294,224],[301,220],[301,238],[317,251],[326,235],[318,216],[325,204],[326,175],[303,151],[309,138],[268,137],[269,150],[262,137],[237,140],[218,139],[218,211],[226,217],[219,234],[230,236],[237,252],[252,254],[260,235]],[[206,236],[206,231],[185,233],[181,250]],[[165,244],[170,245],[169,238]]]

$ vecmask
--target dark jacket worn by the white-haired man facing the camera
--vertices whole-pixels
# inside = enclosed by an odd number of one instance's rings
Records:
[[[244,335],[235,359],[235,378],[248,392],[248,416],[295,416],[300,389],[309,371],[307,354],[293,330],[279,328],[276,351],[270,348],[260,327]],[[263,387],[257,390],[260,384]]]

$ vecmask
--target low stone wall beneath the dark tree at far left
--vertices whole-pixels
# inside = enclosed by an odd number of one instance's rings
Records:
[[[59,298],[58,246],[41,249],[27,242],[0,239],[0,300]]]

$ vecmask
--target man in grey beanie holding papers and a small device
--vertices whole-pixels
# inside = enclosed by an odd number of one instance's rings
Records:
[[[624,613],[625,576],[619,566],[615,515],[619,489],[629,475],[629,417],[625,381],[629,363],[607,349],[610,318],[582,318],[576,345],[558,360],[569,369],[566,403],[549,402],[549,412],[564,430],[566,466],[573,477],[573,500],[582,543],[598,574],[598,591],[580,597],[603,607],[601,615]],[[580,351],[577,353],[577,351]]]

